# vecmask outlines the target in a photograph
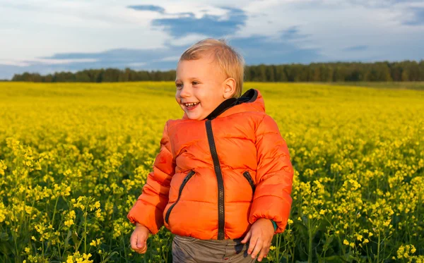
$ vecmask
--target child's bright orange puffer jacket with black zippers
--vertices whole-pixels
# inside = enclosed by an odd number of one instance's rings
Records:
[[[200,239],[245,236],[259,218],[285,229],[293,166],[258,90],[227,99],[202,121],[169,120],[132,224]]]

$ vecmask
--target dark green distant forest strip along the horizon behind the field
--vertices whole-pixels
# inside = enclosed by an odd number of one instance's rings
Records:
[[[133,71],[130,68],[89,69],[15,74],[12,81],[30,82],[124,82],[174,81],[175,71]],[[257,82],[358,82],[358,81],[424,81],[424,60],[399,62],[335,62],[246,66],[245,81]]]

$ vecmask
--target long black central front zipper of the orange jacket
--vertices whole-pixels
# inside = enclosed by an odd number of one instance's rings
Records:
[[[208,135],[209,149],[211,149],[213,169],[215,169],[216,181],[218,181],[218,240],[223,240],[225,239],[224,181],[220,170],[218,153],[216,152],[215,140],[213,139],[211,120],[206,121],[206,133]]]

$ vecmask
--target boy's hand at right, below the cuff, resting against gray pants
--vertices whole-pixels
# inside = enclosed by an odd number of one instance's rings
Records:
[[[250,239],[247,254],[252,255],[252,258],[255,258],[260,251],[261,254],[259,254],[258,257],[258,261],[260,262],[263,257],[268,255],[273,233],[274,228],[271,220],[258,219],[255,221],[254,224],[252,224],[249,232],[247,232],[245,238],[242,240],[242,243],[247,243],[247,241]]]

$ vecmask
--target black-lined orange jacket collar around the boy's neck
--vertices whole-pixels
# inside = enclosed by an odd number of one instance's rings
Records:
[[[259,90],[250,89],[239,98],[225,99],[204,120],[213,120],[242,111],[265,111],[264,99]],[[184,113],[182,119],[188,119]]]

